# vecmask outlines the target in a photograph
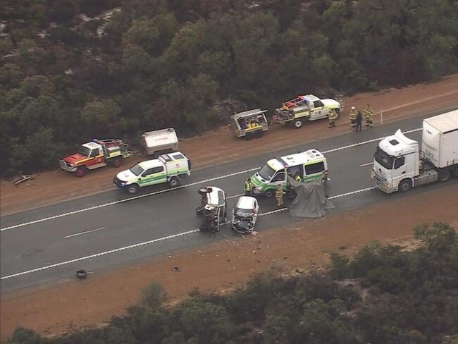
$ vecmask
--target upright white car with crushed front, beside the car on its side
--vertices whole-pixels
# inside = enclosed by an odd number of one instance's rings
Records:
[[[241,234],[252,233],[258,216],[259,205],[256,198],[249,196],[240,197],[233,209],[233,229]]]

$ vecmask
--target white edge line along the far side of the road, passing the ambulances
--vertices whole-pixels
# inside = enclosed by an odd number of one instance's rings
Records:
[[[403,131],[402,133],[409,134],[409,133],[414,133],[414,132],[420,131],[420,130],[421,130],[421,128],[417,128],[417,129],[413,129],[413,130]],[[385,137],[377,137],[376,139],[366,140],[366,141],[354,143],[352,145],[346,145],[346,146],[342,146],[342,147],[338,147],[338,148],[328,149],[326,151],[323,151],[323,154],[328,154],[328,153],[331,153],[331,152],[337,152],[339,150],[348,149],[348,148],[352,148],[352,147],[357,147],[357,146],[361,146],[361,145],[367,145],[368,143],[371,143],[371,142],[380,141],[383,138],[385,138]],[[138,195],[138,196],[134,196],[134,197],[130,197],[130,198],[119,199],[118,201],[108,202],[108,203],[104,203],[104,204],[98,204],[98,205],[95,205],[93,207],[87,207],[87,208],[78,209],[78,210],[75,210],[75,211],[68,211],[68,212],[63,213],[63,214],[49,216],[49,217],[45,217],[43,219],[37,219],[37,220],[28,221],[28,222],[24,222],[24,223],[18,223],[16,225],[0,228],[0,231],[8,231],[8,229],[13,229],[13,228],[23,227],[23,226],[27,226],[27,225],[32,225],[34,223],[39,223],[39,222],[43,222],[43,221],[54,220],[54,219],[58,219],[58,218],[63,217],[63,216],[69,216],[69,215],[73,215],[73,214],[82,213],[84,211],[99,209],[99,208],[103,208],[103,207],[109,207],[109,206],[111,206],[113,204],[119,204],[119,203],[131,201],[132,199],[140,199],[140,198],[149,197],[149,196],[152,196],[152,195],[159,195],[159,194],[164,193],[164,192],[170,192],[172,190],[177,190],[177,189],[181,189],[181,188],[188,188],[190,186],[199,185],[199,184],[203,184],[203,183],[208,183],[208,182],[211,182],[213,180],[233,177],[233,176],[237,176],[239,174],[256,171],[256,170],[259,170],[259,168],[261,168],[261,166],[254,167],[254,168],[248,168],[247,170],[238,171],[238,172],[234,172],[234,173],[229,173],[229,174],[227,174],[225,176],[213,177],[213,178],[209,178],[209,179],[206,179],[206,180],[200,180],[199,182],[194,182],[194,183],[190,183],[190,184],[181,185],[181,186],[178,186],[177,188],[170,188],[170,189],[166,189],[166,190],[149,192],[149,193],[146,193],[146,194],[143,194],[143,195]]]

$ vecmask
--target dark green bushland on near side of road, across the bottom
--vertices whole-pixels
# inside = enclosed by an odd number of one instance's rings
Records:
[[[456,344],[457,234],[434,223],[415,236],[415,250],[374,243],[352,259],[334,254],[326,273],[284,277],[277,266],[227,295],[194,291],[174,307],[153,283],[104,328],[58,338],[18,328],[6,343]]]

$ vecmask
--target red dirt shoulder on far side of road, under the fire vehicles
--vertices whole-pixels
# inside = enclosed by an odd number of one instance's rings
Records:
[[[362,110],[366,104],[371,104],[376,113],[375,125],[380,125],[380,111],[383,111],[383,123],[389,123],[416,116],[421,111],[458,106],[458,75],[452,75],[440,82],[356,94],[344,100],[345,111],[337,121],[337,127],[333,129],[329,129],[324,120],[307,123],[299,130],[274,125],[261,139],[245,141],[237,139],[228,128],[223,127],[198,137],[181,140],[180,149],[192,159],[193,168],[204,168],[271,152],[279,147],[292,147],[347,133],[348,111],[351,106]],[[147,157],[132,157],[125,161],[125,166],[141,159]],[[35,176],[30,183],[17,186],[13,185],[12,180],[1,180],[0,214],[5,216],[111,190],[115,188],[112,180],[116,171],[119,170],[100,168],[91,171],[84,178],[75,178],[71,173],[56,169]]]

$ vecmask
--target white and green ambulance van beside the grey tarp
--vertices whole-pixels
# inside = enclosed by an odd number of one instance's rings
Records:
[[[251,185],[251,195],[273,197],[278,185],[287,190],[287,176],[300,177],[302,182],[316,179],[328,179],[328,162],[326,156],[317,149],[273,158],[247,180]]]

